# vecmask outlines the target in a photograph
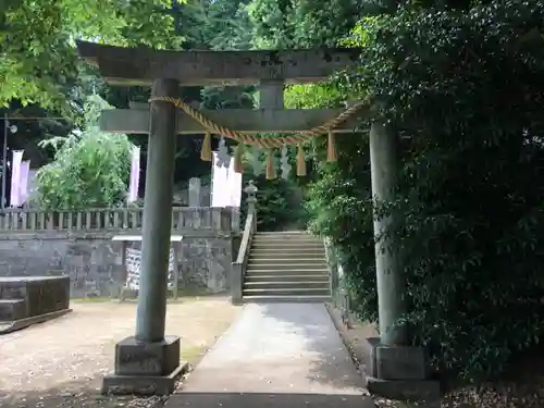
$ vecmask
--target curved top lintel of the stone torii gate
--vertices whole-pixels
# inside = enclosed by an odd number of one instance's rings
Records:
[[[360,54],[356,48],[168,51],[86,41],[78,41],[77,49],[114,85],[150,85],[157,78],[174,78],[183,86],[250,85],[271,79],[314,83],[355,65]]]

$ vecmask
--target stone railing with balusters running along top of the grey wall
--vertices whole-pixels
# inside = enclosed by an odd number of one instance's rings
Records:
[[[140,231],[144,208],[97,208],[44,211],[7,209],[0,212],[0,234],[7,232]],[[238,208],[174,207],[172,231],[239,233]]]

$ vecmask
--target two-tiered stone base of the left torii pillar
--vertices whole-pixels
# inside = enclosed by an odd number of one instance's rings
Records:
[[[165,336],[156,343],[134,336],[115,345],[115,371],[102,379],[104,395],[169,395],[188,370],[180,360],[181,341]]]

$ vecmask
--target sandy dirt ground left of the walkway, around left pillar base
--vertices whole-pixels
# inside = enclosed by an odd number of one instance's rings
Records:
[[[73,312],[0,336],[0,407],[158,407],[161,398],[102,397],[113,372],[115,343],[134,335],[135,302],[72,302]],[[169,304],[166,334],[182,337],[182,357],[195,363],[240,308],[226,298]]]

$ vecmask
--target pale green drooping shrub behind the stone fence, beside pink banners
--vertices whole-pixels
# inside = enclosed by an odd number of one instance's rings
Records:
[[[126,194],[132,144],[125,135],[104,134],[98,114],[108,107],[91,97],[86,104],[86,127],[69,137],[40,144],[52,147],[54,160],[36,175],[36,203],[44,209],[114,207]]]

